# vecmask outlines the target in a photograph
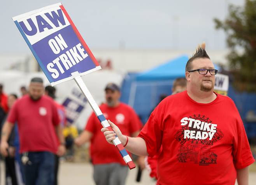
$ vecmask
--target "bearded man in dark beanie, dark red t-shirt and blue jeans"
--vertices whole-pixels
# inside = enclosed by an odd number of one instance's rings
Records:
[[[0,149],[7,156],[7,140],[14,123],[18,123],[26,185],[53,185],[54,154],[65,152],[63,145],[57,146],[55,136],[56,130],[60,142],[64,142],[56,106],[43,94],[42,79],[32,78],[29,94],[14,103],[2,128]]]

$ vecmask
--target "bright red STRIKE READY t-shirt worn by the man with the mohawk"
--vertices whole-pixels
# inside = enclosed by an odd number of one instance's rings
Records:
[[[231,185],[236,169],[254,162],[234,102],[217,94],[197,103],[187,91],[165,98],[139,134],[149,156],[158,158],[159,185]]]

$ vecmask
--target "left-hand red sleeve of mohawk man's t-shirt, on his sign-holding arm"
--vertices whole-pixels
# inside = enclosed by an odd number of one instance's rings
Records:
[[[138,137],[142,137],[147,146],[147,153],[153,157],[161,147],[162,141],[162,124],[163,124],[163,103],[160,103],[149,116],[149,120],[144,125]]]

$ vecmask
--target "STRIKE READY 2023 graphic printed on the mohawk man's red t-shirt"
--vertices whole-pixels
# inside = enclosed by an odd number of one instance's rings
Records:
[[[175,134],[175,139],[181,144],[177,154],[178,161],[199,165],[216,164],[218,155],[211,148],[223,136],[217,124],[212,123],[205,115],[182,118],[181,129]]]

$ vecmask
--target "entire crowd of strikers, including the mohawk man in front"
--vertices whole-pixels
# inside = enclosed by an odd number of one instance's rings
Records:
[[[216,74],[205,44],[200,45],[187,62],[186,78],[174,81],[173,95],[160,97],[144,127],[133,108],[119,101],[119,86],[109,83],[100,109],[114,132],[102,128],[92,113],[79,136],[66,123],[63,106],[54,101],[56,89],[44,87],[41,78],[32,78],[28,90],[21,87],[20,98],[7,96],[0,84],[6,184],[56,185],[66,149],[72,152],[73,143],[79,147],[90,142],[95,184],[123,185],[128,167],[109,145],[118,136],[159,185],[234,184],[236,179],[247,185],[255,160],[235,104],[214,92]],[[213,173],[201,178],[205,169]]]

